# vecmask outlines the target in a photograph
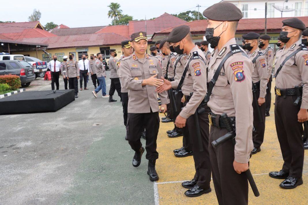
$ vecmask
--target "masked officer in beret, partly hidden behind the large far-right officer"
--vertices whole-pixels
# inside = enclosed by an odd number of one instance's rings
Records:
[[[269,35],[261,35],[260,36],[260,51],[264,54],[267,61],[267,88],[266,88],[266,97],[265,97],[265,116],[270,116],[270,104],[272,101],[272,94],[270,93],[272,87],[272,70],[274,63],[274,50],[270,47],[270,36]]]

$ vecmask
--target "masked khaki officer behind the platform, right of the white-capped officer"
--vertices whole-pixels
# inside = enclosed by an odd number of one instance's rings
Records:
[[[75,98],[78,98],[78,79],[79,79],[79,67],[78,62],[73,60],[74,54],[69,54],[69,61],[66,63],[65,76],[68,80],[69,89],[75,89]]]

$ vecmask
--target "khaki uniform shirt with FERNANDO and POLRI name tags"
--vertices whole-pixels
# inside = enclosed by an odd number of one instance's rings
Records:
[[[128,113],[158,112],[156,86],[144,85],[142,81],[157,74],[163,77],[158,59],[144,54],[144,59],[138,59],[135,52],[122,59],[120,64],[120,79],[124,88],[128,89]],[[168,104],[167,91],[158,93],[161,104]]]

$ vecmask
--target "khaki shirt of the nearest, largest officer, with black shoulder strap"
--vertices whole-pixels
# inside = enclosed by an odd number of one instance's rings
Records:
[[[232,44],[236,44],[235,38],[214,53],[209,63],[208,81],[211,81],[218,65],[230,52]],[[225,112],[229,117],[236,117],[234,158],[239,163],[248,163],[253,150],[252,73],[251,60],[242,53],[233,54],[225,61],[208,102],[214,114]]]

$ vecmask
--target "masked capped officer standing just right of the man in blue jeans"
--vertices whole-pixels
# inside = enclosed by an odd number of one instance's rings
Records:
[[[121,83],[120,83],[120,78],[117,74],[116,71],[116,60],[114,57],[117,56],[117,53],[115,53],[115,49],[110,49],[110,58],[109,58],[109,69],[110,69],[110,90],[109,90],[109,102],[116,102],[117,100],[114,100],[112,98],[113,94],[115,93],[115,90],[118,92],[119,97],[121,98],[122,102],[122,97],[121,97]]]

